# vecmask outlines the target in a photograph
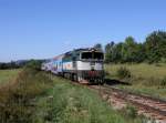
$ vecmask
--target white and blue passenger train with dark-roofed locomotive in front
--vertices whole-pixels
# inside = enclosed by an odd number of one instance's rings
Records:
[[[103,84],[104,52],[94,48],[74,49],[46,60],[41,69],[73,81]]]

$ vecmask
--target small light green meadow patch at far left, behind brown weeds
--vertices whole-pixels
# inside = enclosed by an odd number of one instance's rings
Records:
[[[11,81],[18,73],[20,69],[14,70],[0,70],[0,84]]]

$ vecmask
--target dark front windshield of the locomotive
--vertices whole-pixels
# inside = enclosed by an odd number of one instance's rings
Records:
[[[103,60],[104,55],[102,52],[83,52],[82,59],[97,59]]]

